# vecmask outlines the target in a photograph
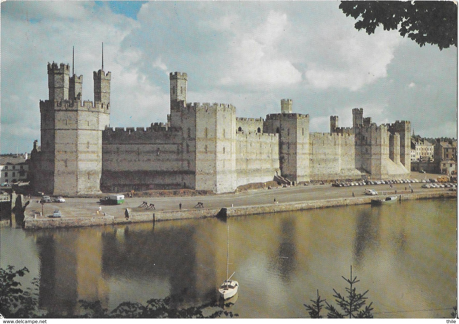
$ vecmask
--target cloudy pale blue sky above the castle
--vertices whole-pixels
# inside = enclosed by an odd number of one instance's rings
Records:
[[[397,31],[354,28],[339,1],[5,1],[0,19],[1,153],[40,141],[47,63],[83,75],[112,72],[112,127],[166,122],[169,72],[188,75],[188,102],[233,104],[239,117],[309,114],[310,132],[330,115],[352,126],[409,120],[422,137],[457,138],[457,48],[420,47]],[[72,67],[71,67],[72,68]]]

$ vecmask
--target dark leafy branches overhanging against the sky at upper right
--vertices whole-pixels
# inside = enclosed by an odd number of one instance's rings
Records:
[[[400,35],[418,43],[438,45],[440,50],[457,47],[458,6],[453,1],[341,1],[339,8],[354,19],[355,28],[375,33],[398,29]]]

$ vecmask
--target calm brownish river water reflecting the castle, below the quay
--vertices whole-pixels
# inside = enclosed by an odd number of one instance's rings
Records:
[[[0,265],[39,277],[41,308],[72,314],[79,299],[112,309],[180,294],[185,305],[239,281],[241,318],[308,317],[317,294],[334,303],[352,265],[375,318],[449,318],[456,305],[457,201],[417,200],[277,214],[92,228],[3,227]],[[326,315],[325,310],[323,311]]]

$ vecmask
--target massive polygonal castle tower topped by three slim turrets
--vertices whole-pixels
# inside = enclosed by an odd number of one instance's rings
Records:
[[[83,76],[69,77],[68,65],[48,64],[50,99],[40,100],[41,151],[34,177],[34,187],[41,192],[66,196],[101,192],[102,130],[110,122],[111,72],[99,70],[94,75],[96,99],[101,101],[82,105]],[[61,76],[67,82],[62,83]]]

